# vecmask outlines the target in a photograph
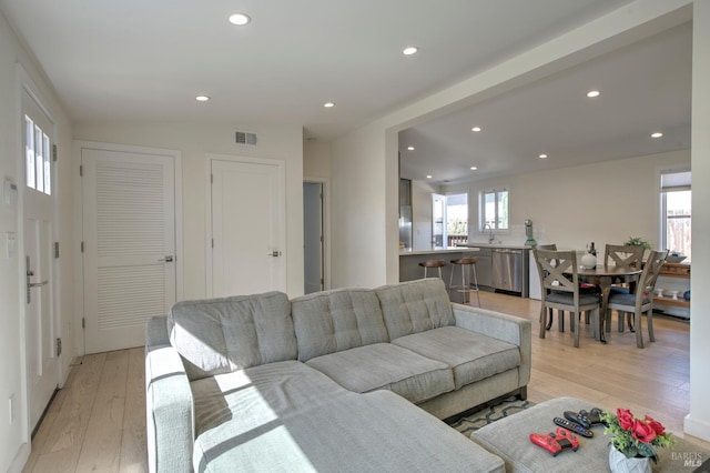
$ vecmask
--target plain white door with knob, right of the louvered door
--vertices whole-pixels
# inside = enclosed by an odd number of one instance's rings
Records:
[[[211,161],[212,295],[286,291],[282,161]]]

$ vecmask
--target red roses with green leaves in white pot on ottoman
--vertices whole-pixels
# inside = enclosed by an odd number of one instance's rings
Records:
[[[617,409],[616,415],[605,411],[601,421],[606,424],[604,433],[611,435],[609,467],[612,472],[650,472],[649,460],[658,463],[656,449],[671,449],[676,444],[663,424],[648,415],[635,417],[628,409]]]

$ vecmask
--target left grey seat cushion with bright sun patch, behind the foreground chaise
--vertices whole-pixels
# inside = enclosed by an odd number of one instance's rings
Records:
[[[317,407],[349,392],[298,361],[261,364],[190,384],[195,436],[235,417],[244,429],[256,429],[285,413]]]

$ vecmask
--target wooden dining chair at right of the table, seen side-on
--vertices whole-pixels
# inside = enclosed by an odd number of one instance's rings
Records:
[[[633,314],[636,325],[636,346],[643,348],[643,331],[641,330],[641,314],[646,314],[646,323],[648,324],[648,340],[656,341],[653,335],[653,289],[658,280],[658,273],[661,271],[663,263],[668,256],[668,250],[651,251],[643,265],[643,272],[636,285],[636,292],[613,292],[609,294],[607,304],[607,320],[611,316],[612,310],[619,311],[621,319],[623,313]]]

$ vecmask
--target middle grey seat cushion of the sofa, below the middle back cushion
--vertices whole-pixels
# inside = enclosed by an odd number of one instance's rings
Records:
[[[306,362],[349,391],[389,390],[418,403],[454,390],[447,364],[392,343],[375,343]]]

